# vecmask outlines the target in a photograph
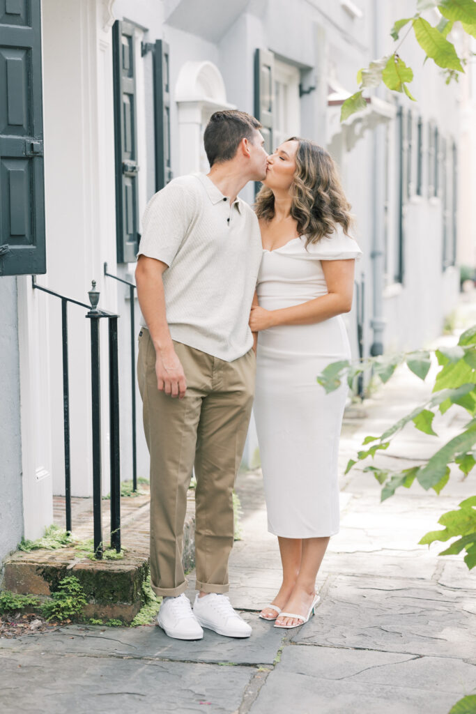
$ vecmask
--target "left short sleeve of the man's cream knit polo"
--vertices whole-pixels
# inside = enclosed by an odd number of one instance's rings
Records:
[[[148,202],[137,257],[156,258],[168,266],[173,263],[196,213],[197,195],[191,184],[196,178],[183,178],[168,183]]]

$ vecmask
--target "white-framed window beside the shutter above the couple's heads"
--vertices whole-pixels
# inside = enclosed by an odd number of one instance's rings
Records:
[[[300,134],[300,72],[297,67],[275,59],[273,151],[290,136]]]

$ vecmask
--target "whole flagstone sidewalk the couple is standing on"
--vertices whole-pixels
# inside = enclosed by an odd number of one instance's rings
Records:
[[[365,436],[429,392],[402,368],[350,408],[341,472]],[[419,463],[463,423],[464,413],[453,411],[435,418],[438,437],[408,426],[375,463]],[[253,626],[249,640],[206,630],[186,643],[154,625],[69,625],[0,640],[2,713],[447,714],[476,693],[476,577],[462,557],[439,558],[441,544],[417,545],[444,511],[475,493],[474,476],[452,473],[440,496],[414,485],[384,503],[377,481],[358,466],[343,476],[341,530],[318,575],[320,605],[288,633],[258,618],[280,585],[260,472],[240,474],[237,491],[243,540],[231,557],[230,595]],[[189,580],[193,597],[193,573]]]

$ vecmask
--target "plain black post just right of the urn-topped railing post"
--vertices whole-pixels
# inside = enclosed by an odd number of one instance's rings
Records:
[[[109,431],[111,461],[111,548],[121,552],[121,459],[119,455],[119,374],[117,317],[109,323]]]

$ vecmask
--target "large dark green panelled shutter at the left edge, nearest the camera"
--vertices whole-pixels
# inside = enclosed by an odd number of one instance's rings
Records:
[[[46,273],[40,0],[0,0],[0,275]]]

